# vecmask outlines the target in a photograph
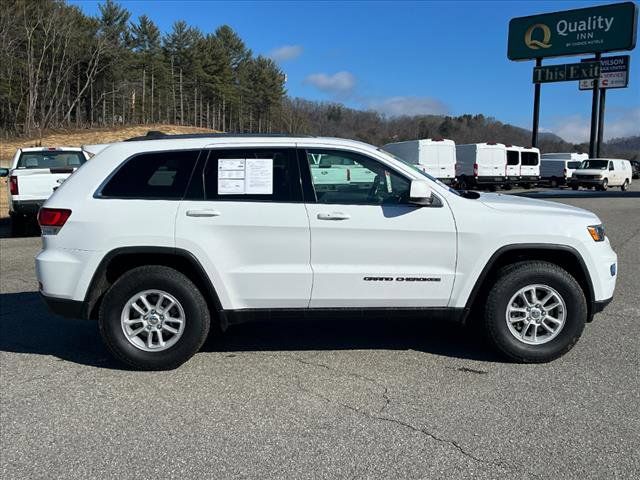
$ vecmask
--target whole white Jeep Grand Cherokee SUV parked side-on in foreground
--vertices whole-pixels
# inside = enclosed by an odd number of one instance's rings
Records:
[[[318,180],[323,156],[370,180]],[[210,325],[337,310],[482,320],[508,357],[545,362],[575,344],[616,283],[593,213],[457,192],[333,138],[113,144],[39,221],[36,271],[52,311],[97,319],[111,352],[137,369],[177,367]]]

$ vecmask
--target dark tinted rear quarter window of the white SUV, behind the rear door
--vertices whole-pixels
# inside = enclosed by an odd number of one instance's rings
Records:
[[[127,160],[102,187],[101,197],[181,199],[199,150],[143,153]]]

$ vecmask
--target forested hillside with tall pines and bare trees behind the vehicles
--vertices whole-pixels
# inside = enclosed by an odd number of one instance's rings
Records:
[[[228,26],[183,21],[163,34],[113,0],[97,17],[61,0],[8,0],[0,9],[0,134],[49,129],[188,125],[230,132],[330,135],[376,145],[446,137],[529,145],[529,131],[483,115],[385,117],[286,95],[286,76]],[[635,140],[634,140],[635,138]],[[603,153],[640,158],[637,137]],[[587,151],[540,135],[543,152]]]

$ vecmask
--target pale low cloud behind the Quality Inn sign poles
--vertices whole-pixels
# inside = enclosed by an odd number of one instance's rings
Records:
[[[589,141],[591,119],[582,115],[560,117],[547,130],[572,143]],[[604,139],[640,135],[640,107],[605,112]]]

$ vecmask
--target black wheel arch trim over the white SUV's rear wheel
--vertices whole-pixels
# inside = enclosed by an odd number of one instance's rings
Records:
[[[221,326],[226,327],[220,298],[202,264],[191,252],[171,247],[121,247],[108,252],[93,274],[82,316],[97,319],[102,299],[111,285],[124,273],[143,265],[163,265],[186,275],[204,295],[211,315],[217,316]]]

